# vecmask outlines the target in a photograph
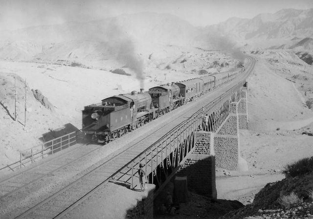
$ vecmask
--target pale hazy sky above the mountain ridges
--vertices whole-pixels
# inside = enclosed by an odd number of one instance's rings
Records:
[[[195,26],[230,17],[253,18],[283,8],[313,8],[313,0],[0,0],[0,29],[89,21],[138,12],[169,13]]]

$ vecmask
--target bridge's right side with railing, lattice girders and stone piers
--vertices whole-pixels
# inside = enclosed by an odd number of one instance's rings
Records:
[[[246,82],[243,81],[170,130],[114,174],[112,179],[129,183],[131,188],[136,188],[139,185],[136,171],[141,163],[149,183],[155,184],[156,190],[160,191],[178,171],[179,176],[188,175],[188,171],[183,170],[199,160],[209,160],[205,164],[209,165],[207,169],[214,168],[214,163],[228,170],[240,169],[239,128],[247,129],[246,106]],[[207,126],[202,122],[206,114],[209,118]],[[212,175],[210,178],[214,179],[215,169],[207,171],[209,172]],[[200,176],[203,173],[196,177],[199,181],[212,181],[201,180]],[[188,181],[188,185],[192,184],[192,181]],[[207,183],[202,186],[203,188],[200,185],[195,187],[202,193],[207,190],[209,197],[216,197],[216,192],[209,189]]]

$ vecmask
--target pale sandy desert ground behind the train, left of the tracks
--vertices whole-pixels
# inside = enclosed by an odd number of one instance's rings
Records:
[[[169,48],[167,53],[171,50],[173,48]],[[46,132],[62,128],[67,123],[81,129],[81,110],[84,106],[99,103],[113,95],[139,91],[140,88],[148,90],[156,85],[199,77],[198,72],[203,67],[211,73],[227,71],[238,62],[223,52],[196,48],[188,52],[175,51],[162,57],[151,61],[148,59],[150,63],[146,64],[143,80],[138,80],[129,69],[126,71],[131,74],[127,76],[59,64],[1,61],[1,167],[19,160],[19,151],[40,145],[42,141],[39,139]],[[220,66],[226,62],[227,67]],[[170,63],[171,67],[166,67]],[[214,63],[219,63],[218,68],[213,67],[216,65]],[[14,121],[15,77],[17,121]],[[39,90],[47,99],[47,105],[34,98],[35,90]]]

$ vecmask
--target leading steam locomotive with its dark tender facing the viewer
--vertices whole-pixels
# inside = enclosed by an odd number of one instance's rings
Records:
[[[86,135],[99,139],[110,138],[137,122],[139,116],[151,108],[151,97],[146,92],[113,96],[101,103],[85,106],[83,128]]]

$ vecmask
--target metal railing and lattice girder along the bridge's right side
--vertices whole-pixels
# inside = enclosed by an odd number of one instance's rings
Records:
[[[147,175],[153,173],[152,179],[149,180],[152,183],[154,183],[153,176],[156,176],[158,166],[162,167],[159,168],[159,171],[161,171],[160,169],[162,169],[162,171],[166,171],[169,166],[173,171],[177,169],[179,164],[186,159],[188,153],[193,150],[194,133],[195,131],[201,130],[203,115],[206,113],[213,114],[213,112],[223,107],[229,109],[229,103],[234,95],[235,98],[233,98],[233,100],[238,101],[238,98],[240,99],[238,93],[240,94],[239,91],[244,83],[245,81],[239,82],[227,90],[219,98],[216,98],[215,100],[206,104],[202,110],[198,110],[190,118],[181,122],[177,127],[173,128],[170,132],[157,140],[153,145],[140,153],[136,158],[127,163],[121,170],[112,175],[112,179],[121,179],[121,177],[119,177],[120,174],[124,174],[124,176],[127,175],[127,177],[124,178],[126,179],[124,181],[130,183],[131,188],[134,188],[136,185],[135,182],[138,181],[136,172],[138,170],[139,163],[144,164]],[[216,122],[216,125],[213,126],[214,129],[211,131],[215,132],[218,129],[218,126],[223,123],[227,116],[228,114],[224,114],[223,117],[219,118],[219,121]],[[183,147],[182,144],[185,144],[185,147]],[[160,179],[157,179],[157,177],[156,180],[158,184],[161,181]]]

